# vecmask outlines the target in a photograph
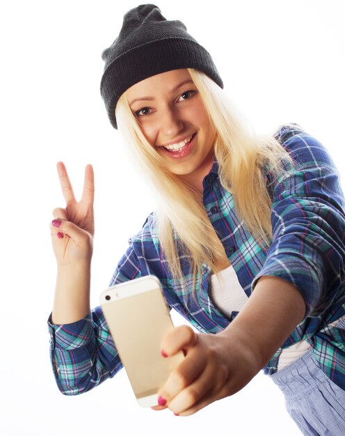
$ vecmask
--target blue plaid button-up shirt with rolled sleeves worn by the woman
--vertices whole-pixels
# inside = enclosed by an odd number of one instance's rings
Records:
[[[275,137],[296,167],[287,169],[278,180],[271,180],[266,173],[273,201],[271,244],[259,244],[237,219],[232,194],[220,184],[216,161],[203,180],[204,208],[248,296],[260,277],[271,275],[293,283],[305,298],[305,319],[275,352],[264,372],[275,373],[282,350],[305,340],[326,375],[345,389],[344,322],[343,327],[336,326],[345,315],[345,201],[339,174],[326,149],[300,126],[280,127]],[[184,277],[174,281],[154,222],[152,214],[129,240],[110,285],[153,274],[161,281],[170,307],[200,332],[222,331],[237,312],[227,318],[210,298],[211,270],[202,265],[194,298],[188,258],[180,256]],[[64,394],[88,391],[122,367],[99,306],[78,322],[51,325],[49,318],[48,325],[51,362]]]

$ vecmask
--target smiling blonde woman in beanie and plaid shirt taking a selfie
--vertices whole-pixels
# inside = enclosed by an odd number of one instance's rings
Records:
[[[345,428],[345,213],[337,169],[298,125],[257,137],[223,93],[209,53],[179,21],[142,5],[103,54],[112,125],[157,194],[157,211],[111,285],[154,274],[177,327],[162,359],[184,350],[157,409],[186,416],[235,394],[260,369],[305,435]],[[54,210],[58,263],[49,318],[59,389],[88,391],[122,364],[99,307],[90,310],[93,169],[81,201],[65,166]]]

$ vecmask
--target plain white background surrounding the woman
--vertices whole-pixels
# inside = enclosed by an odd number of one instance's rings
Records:
[[[328,147],[344,174],[342,3],[160,0],[159,6],[209,50],[225,91],[257,132],[298,123]],[[56,276],[49,222],[51,210],[64,205],[56,162],[65,162],[78,197],[85,165],[95,169],[93,306],[127,238],[154,209],[99,95],[101,52],[138,2],[0,5],[1,434],[300,434],[282,394],[261,374],[188,418],[139,407],[125,371],[81,396],[60,394],[46,326]]]

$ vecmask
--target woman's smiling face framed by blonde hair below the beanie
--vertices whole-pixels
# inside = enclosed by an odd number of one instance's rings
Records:
[[[214,130],[188,70],[163,72],[126,91],[131,111],[166,168],[197,189],[214,161]]]

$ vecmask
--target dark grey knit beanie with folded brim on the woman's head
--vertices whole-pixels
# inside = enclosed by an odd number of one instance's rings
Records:
[[[101,95],[111,124],[118,128],[115,107],[122,93],[147,77],[179,68],[195,68],[223,88],[211,55],[180,21],[169,21],[161,10],[145,4],[129,10],[120,35],[104,50]]]

